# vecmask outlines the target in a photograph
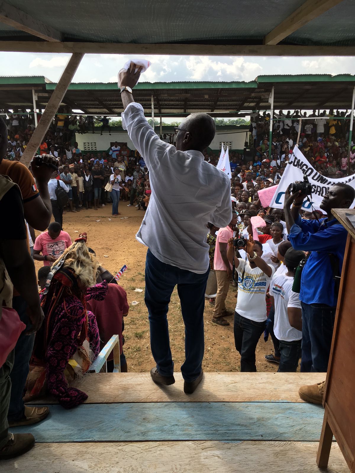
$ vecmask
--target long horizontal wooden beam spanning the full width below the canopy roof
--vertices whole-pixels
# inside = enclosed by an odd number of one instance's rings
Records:
[[[18,53],[185,54],[207,56],[355,56],[355,46],[288,44],[135,44],[46,41],[1,41],[0,51]]]

